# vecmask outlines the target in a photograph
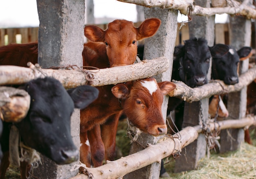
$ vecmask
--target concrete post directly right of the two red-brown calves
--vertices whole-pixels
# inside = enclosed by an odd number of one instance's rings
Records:
[[[177,10],[168,10],[160,8],[144,8],[145,18],[156,17],[162,21],[162,24],[157,31],[157,33],[148,39],[145,39],[145,48],[144,48],[144,59],[153,59],[156,57],[165,56],[170,59],[170,67],[168,70],[162,74],[154,76],[157,79],[157,82],[160,81],[171,81],[171,72],[173,65],[173,52],[176,41],[177,34]],[[166,111],[168,104],[168,96],[164,97],[164,103],[162,105],[162,113],[166,119]],[[142,146],[146,147],[146,144],[156,144],[157,138],[148,135],[142,134],[137,142]],[[141,145],[133,142],[130,153],[135,153],[144,149]],[[160,162],[146,166],[135,172],[131,172],[128,175],[124,176],[125,179],[130,178],[141,178],[141,179],[156,179],[159,178],[160,174]]]

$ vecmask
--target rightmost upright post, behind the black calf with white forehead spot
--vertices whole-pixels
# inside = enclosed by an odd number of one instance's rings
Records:
[[[229,17],[229,41],[230,45],[239,50],[243,46],[251,45],[251,20],[245,17]],[[240,62],[239,73],[242,74],[248,70],[249,59]],[[240,92],[229,93],[227,109],[229,119],[239,119],[245,117],[247,104],[247,87]],[[220,133],[220,153],[234,151],[244,141],[243,129],[226,129]]]

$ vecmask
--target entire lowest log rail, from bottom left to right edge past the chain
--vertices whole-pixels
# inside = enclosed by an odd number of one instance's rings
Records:
[[[223,120],[218,122],[208,122],[206,124],[207,132],[218,129],[229,128],[243,128],[250,125],[256,125],[255,116],[247,116],[242,119]],[[115,161],[108,162],[103,166],[97,168],[87,168],[83,166],[93,178],[106,179],[106,178],[119,178],[123,177],[129,172],[138,170],[154,162],[161,162],[161,159],[168,157],[181,151],[182,148],[193,142],[198,138],[198,133],[202,132],[202,125],[195,127],[186,127],[178,134],[173,135],[173,138],[163,137],[155,145],[149,145],[146,149],[121,157]],[[180,140],[181,139],[181,140]],[[87,175],[79,174],[71,179],[88,179]]]

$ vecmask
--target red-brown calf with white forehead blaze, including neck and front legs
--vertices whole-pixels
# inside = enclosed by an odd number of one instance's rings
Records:
[[[96,132],[100,129],[97,124],[103,124],[108,117],[113,117],[115,114],[118,116],[124,112],[132,124],[143,132],[155,136],[166,134],[167,127],[161,107],[163,95],[175,89],[174,83],[169,81],[157,83],[154,78],[147,78],[124,84],[106,85],[98,89],[100,97],[86,110],[81,110],[80,160],[82,163],[90,166],[88,134],[94,167],[102,165],[105,149],[100,131]],[[116,119],[118,121],[118,118]],[[109,127],[109,130],[109,133],[105,132],[108,137],[111,130],[115,129]]]

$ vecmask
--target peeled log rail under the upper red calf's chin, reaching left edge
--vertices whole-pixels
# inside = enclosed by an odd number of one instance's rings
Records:
[[[141,63],[132,65],[105,68],[100,70],[86,70],[92,74],[94,79],[92,86],[110,85],[132,81],[136,79],[148,78],[156,74],[162,73],[168,69],[170,65],[169,59],[159,57],[153,60],[145,60]],[[0,66],[0,85],[22,84],[39,77],[52,76],[58,79],[64,87],[72,88],[85,85],[84,70],[52,70],[41,68],[24,68],[18,66]]]

